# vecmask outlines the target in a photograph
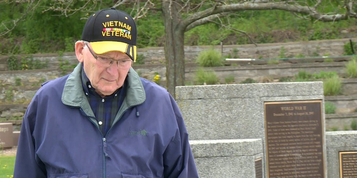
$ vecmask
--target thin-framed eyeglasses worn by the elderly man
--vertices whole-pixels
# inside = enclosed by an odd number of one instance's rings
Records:
[[[85,45],[87,46],[89,52],[93,55],[93,57],[96,59],[97,61],[97,65],[101,66],[101,67],[109,67],[114,61],[116,61],[117,66],[120,69],[129,69],[134,61],[132,60],[114,60],[112,58],[107,58],[107,57],[101,57],[101,56],[95,56],[94,52],[89,48],[88,44],[85,43]]]

